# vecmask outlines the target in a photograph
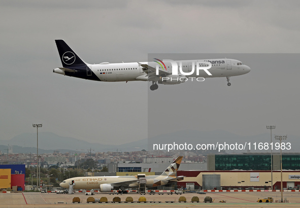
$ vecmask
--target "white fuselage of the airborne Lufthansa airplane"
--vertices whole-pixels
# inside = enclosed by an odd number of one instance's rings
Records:
[[[175,61],[178,66],[182,63],[182,71],[189,73],[192,71],[192,63],[196,61],[211,62],[212,66],[208,70],[212,75],[208,75],[205,71],[199,71],[198,75],[194,70],[194,73],[187,75],[187,78],[203,77],[203,78],[215,78],[215,77],[232,77],[244,75],[250,72],[249,66],[245,64],[237,65],[241,63],[235,59],[199,59],[199,60],[182,60]],[[126,82],[126,81],[148,81],[147,74],[143,72],[141,64],[149,64],[150,62],[131,62],[131,63],[101,63],[101,64],[88,64],[86,67],[73,67],[75,72],[66,72],[55,68],[54,73],[77,77],[82,79],[103,81],[103,82]],[[166,63],[167,70],[171,72],[171,64]]]

